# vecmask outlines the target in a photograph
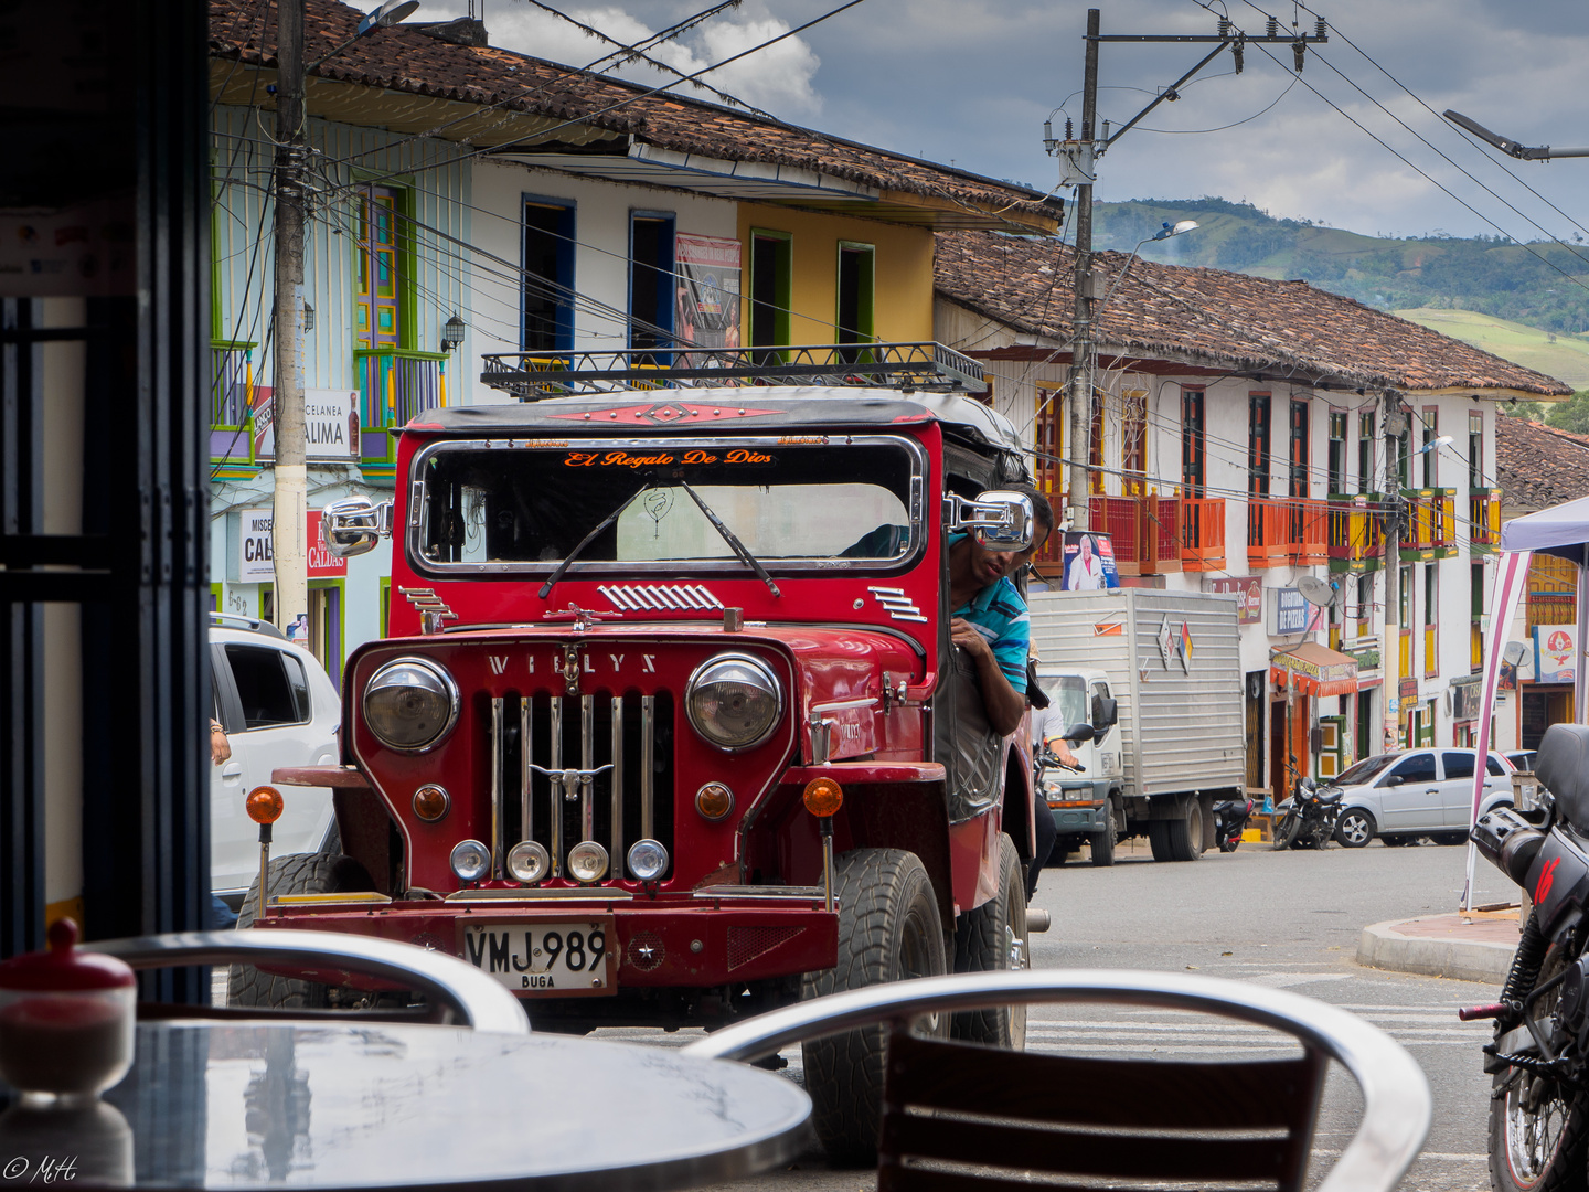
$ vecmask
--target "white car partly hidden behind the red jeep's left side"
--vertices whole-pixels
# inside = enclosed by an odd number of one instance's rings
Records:
[[[269,621],[210,613],[215,718],[232,757],[210,768],[210,888],[237,909],[259,876],[259,825],[243,801],[276,766],[334,766],[342,698],[319,661]],[[270,855],[319,852],[335,817],[329,787],[288,787]]]

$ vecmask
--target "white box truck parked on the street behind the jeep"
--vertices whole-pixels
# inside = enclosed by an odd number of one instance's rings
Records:
[[[1241,639],[1230,596],[1154,588],[1028,599],[1038,679],[1055,720],[1085,722],[1079,774],[1044,771],[1060,850],[1147,836],[1157,861],[1214,846],[1214,803],[1243,798]],[[1073,718],[1074,717],[1074,718]]]

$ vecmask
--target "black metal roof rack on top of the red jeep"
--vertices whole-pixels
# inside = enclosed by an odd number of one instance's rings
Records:
[[[987,388],[982,364],[931,340],[791,348],[502,351],[481,356],[480,380],[521,402],[613,389],[822,385],[949,393]]]

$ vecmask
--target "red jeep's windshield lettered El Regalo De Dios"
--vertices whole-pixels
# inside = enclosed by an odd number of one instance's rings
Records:
[[[429,567],[550,571],[612,518],[572,571],[742,571],[702,502],[769,569],[876,569],[920,540],[922,459],[904,439],[440,443],[418,477],[423,518],[410,545]]]

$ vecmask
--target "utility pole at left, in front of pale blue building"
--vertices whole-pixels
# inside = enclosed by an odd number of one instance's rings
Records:
[[[303,0],[276,5],[276,292],[272,310],[275,407],[276,625],[286,633],[308,612],[303,542],[308,469],[303,464]]]

